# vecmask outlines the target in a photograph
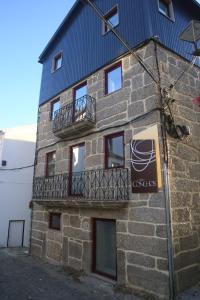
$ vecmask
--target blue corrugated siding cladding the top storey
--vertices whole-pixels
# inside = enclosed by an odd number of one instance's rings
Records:
[[[117,30],[132,46],[152,36],[185,56],[191,52],[187,43],[178,36],[194,18],[191,6],[174,1],[175,22],[158,12],[157,0],[96,0],[103,12],[118,4],[120,23]],[[185,2],[185,1],[184,1]],[[197,16],[195,16],[197,17]],[[186,44],[186,48],[183,45]],[[63,50],[62,68],[51,73],[53,57]],[[67,27],[63,28],[43,61],[40,104],[51,99],[67,87],[74,85],[88,74],[111,62],[126,50],[111,32],[102,35],[102,22],[88,5],[78,4]]]

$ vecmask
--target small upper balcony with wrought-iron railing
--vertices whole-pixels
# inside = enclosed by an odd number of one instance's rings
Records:
[[[79,98],[57,110],[54,114],[53,133],[56,137],[80,135],[95,125],[95,99]]]

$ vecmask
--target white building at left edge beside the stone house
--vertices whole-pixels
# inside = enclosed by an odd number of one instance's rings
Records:
[[[0,247],[28,246],[36,125],[0,131]]]

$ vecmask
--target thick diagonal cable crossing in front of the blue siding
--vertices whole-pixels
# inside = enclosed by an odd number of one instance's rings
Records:
[[[112,31],[112,33],[118,38],[118,40],[123,44],[123,46],[137,59],[139,64],[145,69],[145,71],[149,74],[149,76],[153,79],[155,83],[158,83],[158,80],[155,78],[154,73],[151,70],[151,67],[145,63],[142,58],[133,51],[133,49],[129,46],[129,44],[120,36],[120,34],[114,29],[109,23],[106,18],[104,17],[103,12],[100,10],[100,8],[97,8],[97,6],[94,5],[90,0],[82,0],[84,2],[87,2],[91,8],[95,11],[95,13],[99,16],[99,18],[108,26],[108,28]]]

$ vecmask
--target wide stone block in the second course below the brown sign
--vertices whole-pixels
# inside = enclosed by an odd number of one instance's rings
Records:
[[[138,222],[166,223],[166,212],[161,208],[135,207],[129,212],[129,219]]]

